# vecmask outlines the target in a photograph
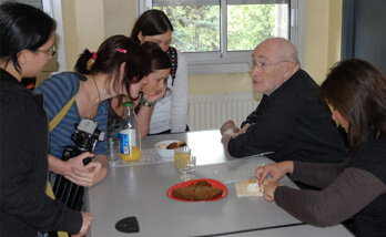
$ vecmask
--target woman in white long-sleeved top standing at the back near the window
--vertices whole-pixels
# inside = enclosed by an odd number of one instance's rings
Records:
[[[187,130],[187,63],[181,52],[170,47],[172,32],[173,25],[165,13],[154,9],[145,11],[131,32],[131,38],[141,44],[148,41],[159,44],[169,53],[172,62],[167,80],[170,91],[155,103],[149,134],[181,133]]]

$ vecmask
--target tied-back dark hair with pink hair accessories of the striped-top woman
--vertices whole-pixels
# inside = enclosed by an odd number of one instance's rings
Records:
[[[88,63],[93,56],[93,64],[88,66]],[[109,84],[111,80],[114,80],[113,90],[116,92],[122,86],[118,79],[120,76],[120,65],[123,62],[126,63],[123,85],[126,87],[131,97],[131,84],[138,83],[144,75],[150,73],[150,62],[142,47],[125,35],[108,38],[100,45],[95,55],[85,49],[79,56],[74,70],[82,74],[114,73],[115,78],[110,76],[106,83]]]

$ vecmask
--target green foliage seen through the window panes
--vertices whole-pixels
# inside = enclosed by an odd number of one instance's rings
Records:
[[[170,18],[173,44],[184,52],[221,50],[220,6],[156,7]],[[264,39],[274,37],[274,4],[227,7],[227,51],[253,50]]]

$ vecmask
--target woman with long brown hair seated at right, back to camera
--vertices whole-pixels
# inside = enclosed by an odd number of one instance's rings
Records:
[[[333,118],[347,132],[349,157],[341,164],[283,162],[256,169],[267,174],[264,197],[315,226],[337,225],[353,217],[357,236],[386,235],[386,79],[370,63],[349,59],[337,63],[319,94],[334,109]],[[280,186],[285,174],[322,190]]]

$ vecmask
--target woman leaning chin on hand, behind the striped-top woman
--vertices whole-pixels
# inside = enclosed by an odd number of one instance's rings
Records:
[[[158,101],[163,96],[166,90],[166,80],[170,74],[171,62],[166,52],[156,43],[145,42],[142,44],[143,50],[148,54],[150,61],[150,73],[145,75],[141,96],[134,101],[135,113],[140,123],[141,136],[144,137],[149,133],[150,118],[154,106],[149,101]],[[122,101],[128,97],[113,97],[109,107],[109,136],[118,137],[120,124],[122,123],[123,105]]]

